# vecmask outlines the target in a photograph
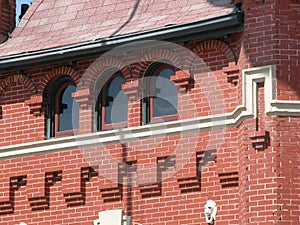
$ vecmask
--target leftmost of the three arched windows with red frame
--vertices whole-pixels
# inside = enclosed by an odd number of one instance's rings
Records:
[[[71,77],[57,80],[49,92],[48,137],[73,135],[79,125],[79,105],[72,97],[76,84]]]

